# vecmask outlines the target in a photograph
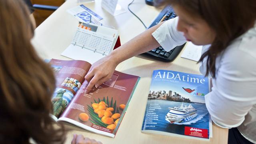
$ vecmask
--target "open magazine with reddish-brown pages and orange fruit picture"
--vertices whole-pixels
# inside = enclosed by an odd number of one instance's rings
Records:
[[[56,59],[49,63],[56,74],[52,117],[114,138],[140,77],[115,71],[110,80],[85,94],[90,63]]]

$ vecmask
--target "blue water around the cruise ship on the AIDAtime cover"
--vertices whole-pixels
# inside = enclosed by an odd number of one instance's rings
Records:
[[[173,108],[174,106],[180,106],[180,104],[182,104],[182,102],[174,102],[169,100],[157,100],[157,99],[148,100],[148,103],[146,106],[146,113],[143,121],[144,130],[158,130],[163,132],[171,132],[175,134],[184,135],[184,127],[189,126],[193,128],[204,128],[204,129],[207,129],[209,132],[209,114],[205,104],[183,102],[183,104],[186,106],[191,104],[197,110],[198,115],[188,122],[171,124],[170,122],[166,121],[165,116],[169,112],[168,108]],[[158,106],[158,107],[150,108],[150,106]],[[149,115],[149,113],[155,115],[153,116],[154,117],[153,119],[151,119],[151,115]],[[147,123],[145,123],[146,121]],[[148,124],[148,122],[150,124]]]

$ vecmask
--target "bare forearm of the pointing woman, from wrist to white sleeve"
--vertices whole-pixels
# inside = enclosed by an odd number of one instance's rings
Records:
[[[162,25],[162,23],[142,32],[132,40],[126,42],[116,50],[114,50],[110,55],[108,55],[112,60],[114,59],[117,64],[127,60],[138,54],[142,54],[154,48],[160,46],[156,39],[152,36],[152,33]]]

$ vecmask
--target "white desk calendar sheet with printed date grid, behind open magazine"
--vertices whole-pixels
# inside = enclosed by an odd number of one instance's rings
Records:
[[[117,30],[80,22],[70,46],[61,55],[93,64],[110,54],[117,36]]]

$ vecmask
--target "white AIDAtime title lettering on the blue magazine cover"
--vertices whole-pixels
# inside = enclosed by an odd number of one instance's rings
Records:
[[[203,78],[199,79],[199,78],[192,78],[189,77],[189,75],[187,76],[180,76],[179,73],[177,73],[176,75],[172,72],[158,72],[155,76],[155,78],[164,78],[164,79],[174,79],[174,80],[180,80],[180,81],[186,81],[186,82],[194,82],[194,83],[201,83],[204,84],[205,80]]]

